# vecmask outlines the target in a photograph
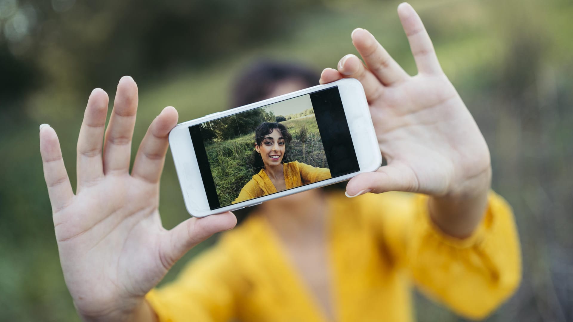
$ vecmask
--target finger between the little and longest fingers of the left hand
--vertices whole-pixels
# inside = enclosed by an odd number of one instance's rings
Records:
[[[108,96],[96,88],[89,96],[88,105],[77,139],[77,192],[82,185],[103,177],[101,145],[107,117]]]

